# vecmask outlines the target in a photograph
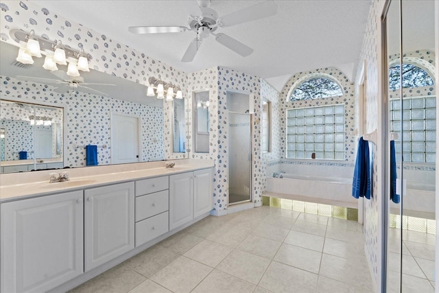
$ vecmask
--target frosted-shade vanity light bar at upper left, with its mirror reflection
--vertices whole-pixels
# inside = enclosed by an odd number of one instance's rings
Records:
[[[90,71],[88,69],[88,58],[84,54],[84,49],[80,51],[62,46],[60,40],[47,40],[46,38],[36,36],[34,30],[29,33],[23,30],[11,30],[12,39],[19,44],[19,55],[16,60],[23,64],[33,64],[32,56],[40,58],[45,55],[43,68],[49,71],[57,71],[58,65],[69,65],[67,75],[72,77],[80,76],[78,71]]]

